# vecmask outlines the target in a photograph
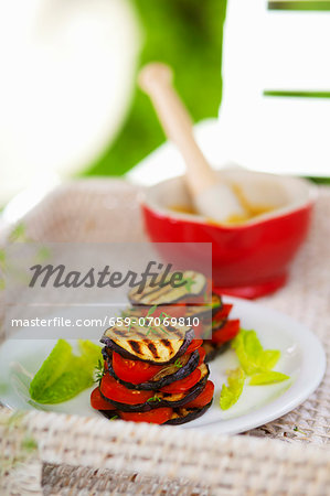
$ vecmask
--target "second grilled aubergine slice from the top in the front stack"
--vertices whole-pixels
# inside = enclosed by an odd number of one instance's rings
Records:
[[[199,351],[191,353],[190,355],[183,355],[180,358],[180,367],[177,364],[164,365],[151,380],[140,384],[131,384],[126,380],[119,379],[113,368],[113,352],[106,347],[102,351],[103,357],[108,366],[109,374],[118,380],[118,382],[126,386],[128,389],[137,389],[145,391],[157,391],[164,386],[172,384],[174,380],[181,380],[190,376],[190,374],[198,367],[200,360]]]

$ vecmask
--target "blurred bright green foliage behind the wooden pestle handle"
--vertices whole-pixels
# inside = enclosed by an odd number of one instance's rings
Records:
[[[131,0],[145,36],[139,66],[170,64],[194,121],[216,117],[222,96],[222,37],[226,0]],[[86,171],[121,175],[164,141],[149,98],[137,87],[117,139]]]

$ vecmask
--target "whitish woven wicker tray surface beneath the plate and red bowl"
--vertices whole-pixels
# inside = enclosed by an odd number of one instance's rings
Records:
[[[145,240],[138,194],[121,181],[66,184],[26,215],[28,236],[53,241]],[[289,283],[260,301],[304,322],[320,337],[328,357],[329,219],[330,190],[320,188],[312,228]],[[318,390],[299,408],[233,438],[43,412],[9,420],[9,412],[2,410],[6,470],[0,493],[2,488],[8,494],[41,494],[42,487],[44,494],[84,495],[326,495],[329,385],[328,368]],[[32,435],[36,448],[22,452],[26,435]]]

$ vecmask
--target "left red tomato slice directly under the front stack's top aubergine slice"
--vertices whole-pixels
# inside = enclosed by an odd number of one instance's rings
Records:
[[[150,380],[161,368],[161,365],[151,365],[141,360],[123,358],[119,353],[113,353],[113,367],[118,379],[131,384],[141,384]]]

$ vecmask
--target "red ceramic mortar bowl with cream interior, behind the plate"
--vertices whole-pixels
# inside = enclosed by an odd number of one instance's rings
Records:
[[[285,284],[288,268],[305,240],[316,187],[306,180],[249,171],[221,171],[252,205],[274,208],[238,226],[209,223],[174,212],[191,207],[183,177],[163,181],[145,192],[142,214],[156,242],[212,242],[212,272],[224,294],[257,298]],[[182,246],[180,247],[182,250]]]

